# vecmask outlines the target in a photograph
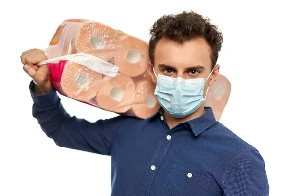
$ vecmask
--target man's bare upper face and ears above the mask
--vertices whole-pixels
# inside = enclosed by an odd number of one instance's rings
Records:
[[[154,52],[154,69],[156,75],[169,77],[182,77],[183,79],[205,78],[212,71],[210,58],[210,46],[203,38],[187,41],[184,44],[161,39]],[[216,65],[214,72],[205,84],[205,89],[213,85],[217,79],[219,65]],[[149,74],[154,83],[155,77],[152,65],[150,64]]]

